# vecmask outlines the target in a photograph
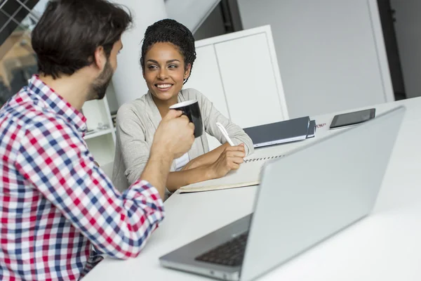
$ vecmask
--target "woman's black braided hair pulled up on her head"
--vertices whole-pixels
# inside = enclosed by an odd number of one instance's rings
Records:
[[[145,55],[149,49],[158,42],[168,42],[178,48],[184,57],[185,67],[190,64],[193,68],[194,60],[196,60],[196,48],[194,47],[194,37],[192,32],[175,20],[165,19],[149,25],[145,32],[142,44],[142,56],[140,57],[140,65],[145,71]],[[192,74],[192,69],[190,69]],[[184,83],[187,82],[185,79]]]

